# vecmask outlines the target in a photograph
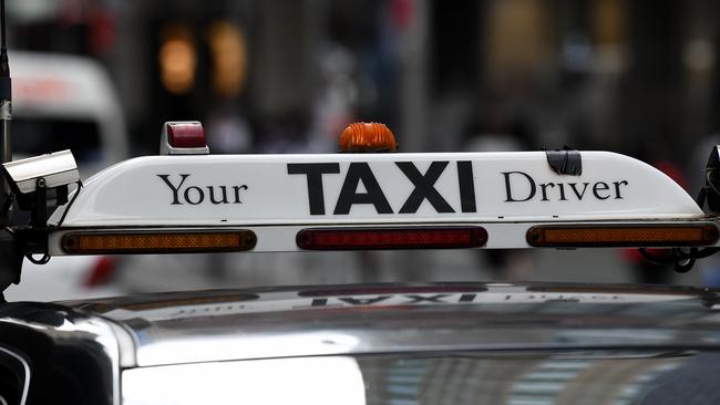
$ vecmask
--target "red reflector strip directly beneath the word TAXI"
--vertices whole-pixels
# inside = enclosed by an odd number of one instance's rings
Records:
[[[308,250],[462,249],[487,242],[481,227],[443,228],[316,228],[298,232],[297,243]]]

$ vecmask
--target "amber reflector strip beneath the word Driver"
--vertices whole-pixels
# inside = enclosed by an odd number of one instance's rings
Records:
[[[714,225],[536,226],[527,231],[534,247],[683,247],[718,241]]]

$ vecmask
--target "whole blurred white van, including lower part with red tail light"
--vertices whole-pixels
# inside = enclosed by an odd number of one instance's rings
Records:
[[[81,178],[128,157],[117,92],[105,68],[90,58],[9,52],[13,159],[72,149]],[[66,260],[69,259],[69,260]],[[23,263],[10,300],[56,300],[115,293],[94,285],[112,272],[107,257],[54,258]]]

